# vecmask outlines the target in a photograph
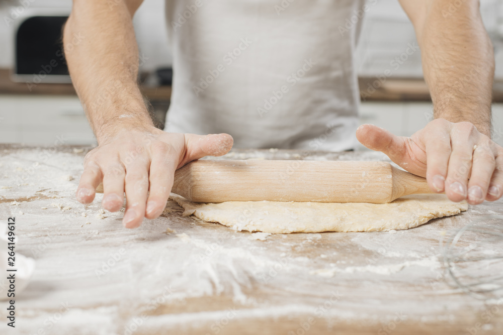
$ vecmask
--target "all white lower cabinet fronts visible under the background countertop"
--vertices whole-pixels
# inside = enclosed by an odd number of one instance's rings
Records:
[[[492,138],[503,145],[503,103],[494,104]],[[360,124],[374,124],[410,136],[433,119],[428,102],[362,102]],[[0,95],[0,143],[95,145],[76,96]],[[363,148],[363,146],[361,146]]]

